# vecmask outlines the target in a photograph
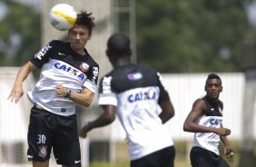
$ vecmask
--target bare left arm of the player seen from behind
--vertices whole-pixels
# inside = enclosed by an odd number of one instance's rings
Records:
[[[86,137],[86,134],[94,128],[103,127],[115,120],[116,107],[113,105],[103,105],[103,113],[94,121],[84,123],[84,127],[81,128],[79,135],[82,138]]]

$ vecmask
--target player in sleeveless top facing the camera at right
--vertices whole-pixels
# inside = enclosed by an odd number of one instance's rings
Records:
[[[228,167],[219,152],[220,139],[224,144],[224,154],[233,156],[227,135],[231,130],[222,127],[223,103],[219,100],[222,80],[217,74],[209,74],[204,87],[206,95],[197,99],[192,111],[184,122],[183,129],[194,133],[191,150],[193,167]]]

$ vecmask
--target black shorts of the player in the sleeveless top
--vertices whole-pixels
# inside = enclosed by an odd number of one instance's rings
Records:
[[[230,167],[230,165],[222,159],[221,155],[217,155],[201,147],[192,147],[190,156],[192,167]]]

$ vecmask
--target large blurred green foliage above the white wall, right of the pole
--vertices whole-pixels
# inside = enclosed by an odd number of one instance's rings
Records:
[[[162,73],[241,71],[249,28],[241,2],[136,1],[138,63]]]

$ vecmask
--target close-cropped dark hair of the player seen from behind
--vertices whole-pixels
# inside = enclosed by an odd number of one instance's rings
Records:
[[[113,34],[107,42],[108,51],[113,56],[131,56],[131,41],[124,34]]]

